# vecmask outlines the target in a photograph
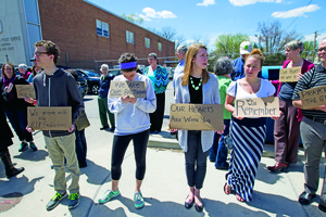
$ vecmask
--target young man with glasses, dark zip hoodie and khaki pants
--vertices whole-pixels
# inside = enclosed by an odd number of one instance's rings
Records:
[[[74,123],[84,108],[74,77],[55,66],[59,58],[59,47],[49,40],[34,44],[36,65],[43,72],[35,76],[33,84],[38,106],[71,106],[72,126],[66,130],[43,130],[46,145],[52,161],[55,193],[47,204],[47,209],[53,209],[67,195],[65,182],[64,157],[72,182],[68,187],[68,208],[75,208],[79,203],[79,167],[75,151]],[[29,128],[32,131],[32,129]]]

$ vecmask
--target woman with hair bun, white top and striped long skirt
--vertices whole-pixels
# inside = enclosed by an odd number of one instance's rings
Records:
[[[253,49],[244,61],[244,78],[229,85],[225,100],[225,108],[234,116],[230,124],[234,149],[230,153],[224,192],[230,194],[235,190],[236,197],[240,202],[249,202],[252,197],[254,179],[266,138],[266,118],[236,116],[234,101],[236,99],[274,97],[274,86],[268,80],[258,77],[263,61],[264,55],[261,50]],[[276,118],[273,117],[273,119]]]

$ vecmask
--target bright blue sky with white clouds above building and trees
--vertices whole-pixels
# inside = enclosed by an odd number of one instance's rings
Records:
[[[171,26],[187,42],[200,38],[213,48],[223,34],[247,34],[258,41],[258,23],[279,21],[283,29],[294,29],[303,40],[326,37],[325,0],[88,0],[116,15],[136,14],[145,28]]]

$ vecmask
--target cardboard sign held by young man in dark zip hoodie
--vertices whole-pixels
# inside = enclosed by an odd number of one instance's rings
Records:
[[[67,130],[72,127],[72,107],[28,107],[27,122],[34,130]]]

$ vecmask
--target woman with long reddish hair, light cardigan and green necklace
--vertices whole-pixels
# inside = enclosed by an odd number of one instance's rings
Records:
[[[200,43],[193,43],[186,53],[185,68],[175,80],[175,103],[220,104],[218,80],[209,74],[208,50]],[[223,131],[217,131],[223,133]],[[200,189],[206,174],[206,158],[213,144],[214,130],[178,130],[179,145],[185,152],[186,176],[190,192],[185,207],[195,203],[197,212],[202,212],[203,202]]]

